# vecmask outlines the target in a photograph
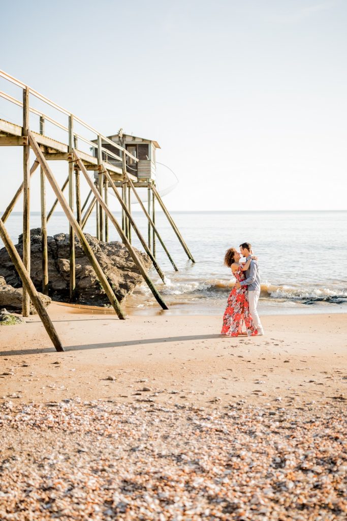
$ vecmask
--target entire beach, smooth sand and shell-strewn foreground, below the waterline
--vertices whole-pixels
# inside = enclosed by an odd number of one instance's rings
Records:
[[[347,315],[49,314],[0,332],[1,519],[346,518]]]

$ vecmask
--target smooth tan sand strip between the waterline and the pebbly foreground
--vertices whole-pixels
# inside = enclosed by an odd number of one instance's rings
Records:
[[[346,392],[347,314],[266,316],[265,336],[236,339],[219,334],[221,317],[120,321],[56,304],[49,314],[65,353],[55,352],[35,315],[2,328],[2,400],[290,406]]]

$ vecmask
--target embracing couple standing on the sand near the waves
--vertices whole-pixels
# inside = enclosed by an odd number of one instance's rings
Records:
[[[246,263],[240,263],[246,257]],[[249,337],[264,334],[256,306],[260,296],[260,275],[257,257],[252,255],[249,242],[240,244],[240,252],[229,248],[224,257],[224,264],[232,269],[236,283],[228,297],[223,316],[222,334],[238,337],[247,334]],[[242,332],[245,322],[246,333]]]

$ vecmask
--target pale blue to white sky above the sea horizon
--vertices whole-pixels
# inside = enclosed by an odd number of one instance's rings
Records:
[[[104,135],[158,141],[179,179],[170,210],[346,209],[345,0],[0,7],[0,69]],[[67,165],[51,166],[62,184]],[[19,148],[0,148],[0,171],[5,209],[22,180]]]

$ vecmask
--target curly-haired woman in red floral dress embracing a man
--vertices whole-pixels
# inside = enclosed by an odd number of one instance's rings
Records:
[[[232,268],[233,275],[238,282],[245,280],[244,272],[251,263],[251,259],[249,259],[246,264],[239,264],[240,258],[241,254],[235,248],[229,248],[224,257],[224,264],[228,268]],[[249,313],[247,286],[240,288],[234,286],[228,297],[221,333],[229,337],[238,337],[239,334],[244,334],[241,332],[243,322],[245,322],[249,337],[258,334]]]

